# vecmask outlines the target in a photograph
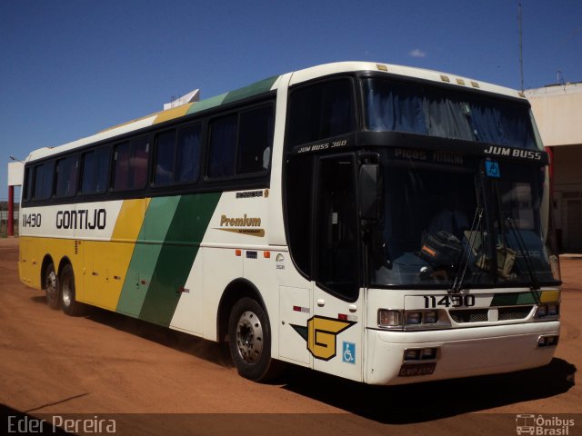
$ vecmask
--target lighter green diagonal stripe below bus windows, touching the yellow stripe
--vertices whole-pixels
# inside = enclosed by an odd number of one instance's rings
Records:
[[[179,196],[153,198],[135,242],[134,253],[125,274],[125,282],[116,312],[138,317],[146,300],[154,267],[166,233],[174,219]]]

